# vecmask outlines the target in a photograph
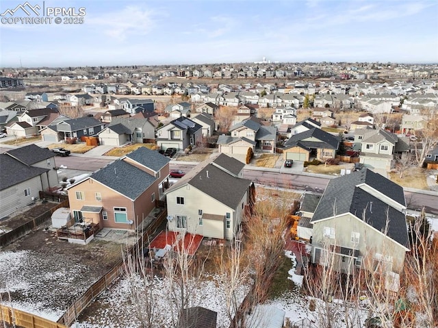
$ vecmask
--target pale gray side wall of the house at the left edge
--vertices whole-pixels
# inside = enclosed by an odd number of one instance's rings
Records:
[[[30,188],[30,194],[25,196],[25,189]],[[33,177],[21,184],[0,191],[0,218],[8,216],[21,207],[32,202],[32,197],[38,198],[40,190],[43,190],[40,175]]]

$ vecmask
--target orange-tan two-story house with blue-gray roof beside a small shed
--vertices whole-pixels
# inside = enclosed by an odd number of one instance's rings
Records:
[[[68,188],[75,222],[135,229],[162,197],[169,159],[140,147]]]

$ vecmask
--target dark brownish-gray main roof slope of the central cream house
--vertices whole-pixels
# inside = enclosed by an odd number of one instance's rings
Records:
[[[233,177],[213,164],[208,164],[188,184],[234,209],[252,181]]]

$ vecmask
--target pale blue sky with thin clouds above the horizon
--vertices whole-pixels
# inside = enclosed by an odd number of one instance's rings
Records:
[[[0,67],[213,64],[263,57],[438,63],[436,0],[28,0],[32,8],[39,6],[39,16],[29,6],[29,16],[21,8],[11,12],[20,4],[25,1],[0,1]],[[64,16],[47,12],[68,8]],[[43,16],[51,21],[20,21]]]

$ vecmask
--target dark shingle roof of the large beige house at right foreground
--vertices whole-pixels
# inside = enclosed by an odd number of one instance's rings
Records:
[[[404,214],[358,187],[361,184],[367,184],[401,205],[406,205],[402,187],[365,168],[329,181],[311,222],[328,218],[335,213],[349,212],[378,231],[383,231],[387,224],[388,214],[387,235],[399,244],[409,247]],[[363,218],[364,213],[365,218]]]

